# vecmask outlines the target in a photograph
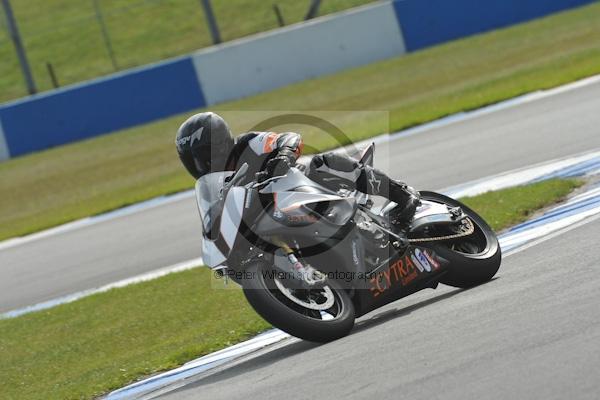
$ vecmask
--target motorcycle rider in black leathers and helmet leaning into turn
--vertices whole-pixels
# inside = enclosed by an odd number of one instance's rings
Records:
[[[296,164],[303,146],[294,132],[247,132],[234,141],[225,120],[212,112],[188,118],[177,131],[175,144],[183,165],[196,179],[209,172],[234,171],[244,163],[249,177],[284,175]],[[307,175],[325,186],[346,185],[397,203],[390,217],[398,233],[406,231],[419,204],[413,188],[340,154],[314,156]]]

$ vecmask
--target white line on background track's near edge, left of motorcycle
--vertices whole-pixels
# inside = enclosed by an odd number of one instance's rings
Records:
[[[160,278],[161,276],[165,276],[168,274],[172,274],[175,272],[186,271],[188,269],[200,267],[204,264],[202,261],[202,257],[194,258],[193,260],[188,260],[184,262],[180,262],[168,267],[160,268],[151,272],[147,272],[145,274],[137,275],[131,278],[123,279],[118,282],[110,283],[105,286],[101,286],[96,289],[84,290],[82,292],[77,292],[73,294],[69,294],[63,297],[59,297],[56,299],[48,300],[43,303],[34,304],[32,306],[19,308],[18,310],[8,311],[6,313],[0,314],[0,319],[4,318],[14,318],[20,315],[29,314],[34,311],[46,310],[48,308],[56,307],[61,304],[71,303],[75,300],[79,300],[83,297],[91,296],[93,294],[108,292],[111,289],[121,288],[129,285],[133,285],[135,283],[151,281],[156,278]]]

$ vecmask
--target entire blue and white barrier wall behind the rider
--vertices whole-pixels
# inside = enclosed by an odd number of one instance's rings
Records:
[[[0,161],[594,1],[394,0],[254,35],[2,105]]]

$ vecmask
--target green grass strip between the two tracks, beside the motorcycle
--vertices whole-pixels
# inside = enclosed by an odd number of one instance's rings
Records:
[[[580,184],[552,180],[466,202],[500,230]],[[229,288],[194,269],[0,320],[0,398],[91,398],[267,329]]]

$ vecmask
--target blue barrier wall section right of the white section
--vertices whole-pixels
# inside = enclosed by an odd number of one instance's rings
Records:
[[[394,9],[406,49],[528,21],[595,0],[396,0]]]

